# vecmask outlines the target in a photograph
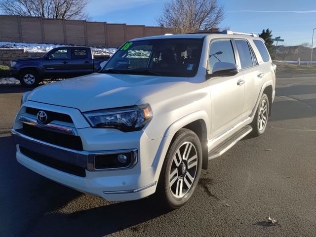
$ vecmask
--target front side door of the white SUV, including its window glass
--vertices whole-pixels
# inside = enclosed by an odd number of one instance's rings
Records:
[[[230,39],[211,42],[208,59],[209,72],[212,72],[216,62],[237,62]],[[212,139],[241,121],[244,104],[243,74],[239,72],[232,77],[211,77],[207,83],[211,94]]]

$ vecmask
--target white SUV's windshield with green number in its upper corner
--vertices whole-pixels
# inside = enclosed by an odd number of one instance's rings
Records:
[[[100,73],[194,77],[203,39],[137,40],[123,44]]]

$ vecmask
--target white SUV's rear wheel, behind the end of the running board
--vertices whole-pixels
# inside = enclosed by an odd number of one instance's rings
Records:
[[[260,136],[265,132],[268,123],[269,110],[270,108],[268,96],[266,94],[263,94],[261,96],[255,118],[253,118],[253,121],[250,124],[252,127],[252,136]]]

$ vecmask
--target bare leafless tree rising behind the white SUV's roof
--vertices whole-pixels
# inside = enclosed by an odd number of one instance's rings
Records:
[[[169,0],[157,23],[183,34],[217,28],[223,19],[224,8],[217,0]]]

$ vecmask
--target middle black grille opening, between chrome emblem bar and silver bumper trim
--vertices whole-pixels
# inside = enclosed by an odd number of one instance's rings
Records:
[[[23,128],[17,129],[17,132],[60,147],[65,147],[76,151],[83,150],[82,141],[79,136],[49,131],[25,123],[23,123]]]

